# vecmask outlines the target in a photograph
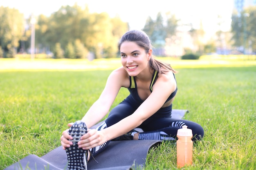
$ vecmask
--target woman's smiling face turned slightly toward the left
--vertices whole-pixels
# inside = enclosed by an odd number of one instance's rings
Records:
[[[121,63],[130,76],[136,76],[148,66],[152,50],[145,49],[136,42],[125,41],[120,46]]]

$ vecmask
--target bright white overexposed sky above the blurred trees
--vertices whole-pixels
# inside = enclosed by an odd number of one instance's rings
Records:
[[[143,29],[148,16],[155,19],[158,12],[175,14],[183,23],[192,23],[195,28],[202,20],[204,31],[217,31],[218,15],[222,16],[223,31],[228,31],[234,0],[0,0],[0,6],[15,8],[28,17],[51,15],[61,6],[73,6],[77,2],[81,7],[88,5],[90,12],[107,12],[110,17],[119,15],[128,22],[130,29]]]

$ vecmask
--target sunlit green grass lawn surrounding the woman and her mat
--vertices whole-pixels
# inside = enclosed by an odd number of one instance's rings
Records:
[[[255,61],[164,60],[179,71],[173,108],[188,109],[184,119],[205,130],[203,140],[194,144],[193,165],[184,169],[254,170]],[[99,97],[109,73],[120,66],[116,60],[44,60],[64,67],[37,70],[31,62],[40,66],[38,61],[0,59],[0,169],[60,146],[67,123],[83,117]],[[13,66],[20,62],[30,64]],[[95,67],[87,70],[81,63]],[[13,67],[8,69],[6,64]],[[65,69],[76,65],[81,69]],[[113,107],[126,95],[128,91],[122,88]],[[157,169],[177,169],[174,143],[164,142],[150,150],[145,170]]]

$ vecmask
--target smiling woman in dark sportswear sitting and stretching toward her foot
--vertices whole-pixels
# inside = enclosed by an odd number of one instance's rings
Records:
[[[107,115],[121,87],[128,88],[130,95],[110,111],[101,126],[80,135],[74,149],[90,149],[92,155],[97,155],[106,148],[108,141],[122,140],[124,137],[134,140],[175,140],[177,130],[183,125],[192,129],[193,141],[200,140],[204,130],[199,124],[171,118],[172,103],[177,92],[176,71],[170,65],[153,59],[146,33],[128,31],[119,42],[119,51],[123,66],[109,75],[99,99],[81,120],[82,126],[85,123],[90,128]],[[139,133],[134,128],[141,128],[144,132]],[[68,130],[61,137],[67,154],[73,137],[74,133]]]

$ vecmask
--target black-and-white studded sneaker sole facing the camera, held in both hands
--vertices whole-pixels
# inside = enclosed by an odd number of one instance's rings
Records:
[[[76,121],[68,130],[73,137],[73,145],[66,148],[67,153],[67,170],[87,170],[87,161],[90,158],[88,150],[78,147],[78,141],[81,136],[87,132],[87,127],[83,121]]]

